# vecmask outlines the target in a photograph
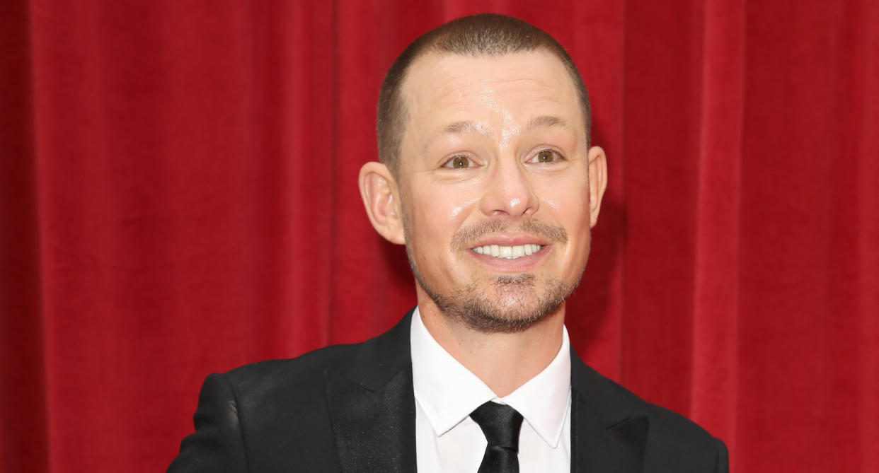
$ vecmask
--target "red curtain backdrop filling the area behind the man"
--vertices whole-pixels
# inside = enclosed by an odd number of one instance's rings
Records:
[[[879,4],[0,2],[0,466],[160,471],[212,371],[414,303],[356,176],[384,71],[499,11],[592,94],[578,352],[737,472],[879,464]]]

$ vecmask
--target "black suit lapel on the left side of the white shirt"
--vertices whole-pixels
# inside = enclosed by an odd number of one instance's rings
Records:
[[[411,311],[368,340],[341,368],[324,371],[338,459],[344,472],[415,471]]]

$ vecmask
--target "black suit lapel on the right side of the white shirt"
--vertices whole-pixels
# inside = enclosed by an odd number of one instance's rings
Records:
[[[573,350],[570,362],[571,472],[642,472],[648,419],[627,412],[622,392]]]

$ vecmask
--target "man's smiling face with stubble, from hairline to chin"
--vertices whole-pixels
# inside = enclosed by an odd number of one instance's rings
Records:
[[[403,97],[398,186],[419,304],[483,332],[556,312],[589,254],[591,157],[604,166],[562,62],[429,54]]]

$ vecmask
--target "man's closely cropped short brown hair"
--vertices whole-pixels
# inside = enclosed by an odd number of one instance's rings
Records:
[[[379,161],[388,166],[394,176],[400,167],[401,143],[408,111],[403,103],[403,81],[412,63],[430,54],[458,54],[464,56],[501,56],[504,54],[543,49],[562,61],[577,90],[586,127],[586,146],[590,137],[592,111],[589,93],[583,77],[564,47],[540,28],[496,13],[481,13],[454,19],[425,32],[412,41],[388,69],[379,92],[375,131],[378,136]]]

